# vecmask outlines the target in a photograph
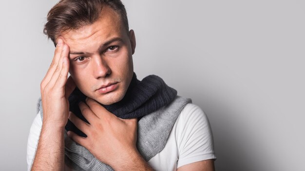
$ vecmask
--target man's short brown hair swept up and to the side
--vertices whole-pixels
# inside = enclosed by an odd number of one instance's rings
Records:
[[[93,24],[104,5],[112,8],[120,16],[128,32],[127,13],[121,0],[60,0],[49,11],[43,33],[56,45],[56,38],[62,32]]]

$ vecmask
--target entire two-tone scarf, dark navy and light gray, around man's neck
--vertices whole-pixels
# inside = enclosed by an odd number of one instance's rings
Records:
[[[123,100],[111,106],[104,106],[114,114],[115,111],[124,111],[124,113],[115,114],[120,118],[140,118],[136,146],[146,161],[163,150],[177,117],[184,106],[191,103],[191,99],[176,96],[176,91],[160,79],[157,76],[148,76],[140,82],[134,74]],[[133,96],[129,96],[129,94]],[[84,97],[79,99],[81,98]],[[143,101],[143,98],[146,99]],[[38,111],[40,111],[42,119],[41,106],[41,101],[39,101]],[[129,110],[127,113],[126,109]],[[66,133],[65,163],[76,171],[113,171],[110,166],[96,159],[86,148],[70,139]]]

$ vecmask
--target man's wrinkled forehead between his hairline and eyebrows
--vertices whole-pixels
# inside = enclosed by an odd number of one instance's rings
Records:
[[[123,34],[126,34],[123,27],[124,25],[119,15],[110,7],[104,6],[99,18],[93,24],[62,33],[58,38],[63,38],[63,41],[71,49],[74,45],[107,40],[114,36],[123,37]]]

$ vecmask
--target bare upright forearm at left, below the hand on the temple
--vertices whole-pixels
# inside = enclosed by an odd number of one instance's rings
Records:
[[[42,124],[32,171],[63,171],[64,129]]]

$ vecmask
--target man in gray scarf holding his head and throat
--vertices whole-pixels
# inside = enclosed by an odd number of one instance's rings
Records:
[[[28,170],[214,170],[202,110],[157,76],[136,79],[135,35],[120,0],[61,0],[47,20],[56,50]]]

